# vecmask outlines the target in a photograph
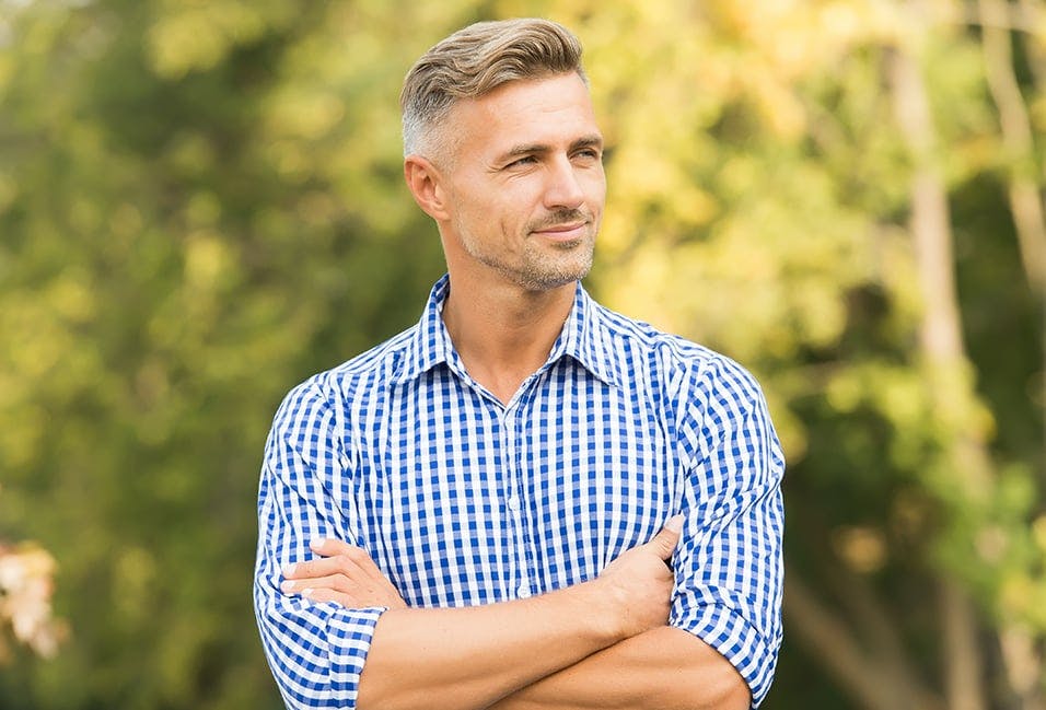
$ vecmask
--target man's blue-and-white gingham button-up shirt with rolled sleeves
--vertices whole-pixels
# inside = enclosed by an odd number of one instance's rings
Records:
[[[295,387],[262,470],[255,609],[290,708],[355,708],[384,609],[280,592],[327,536],[409,606],[489,604],[596,577],[677,512],[670,624],[758,705],[781,641],[783,458],[752,376],[578,286],[547,362],[501,404],[465,371],[432,289],[420,323]]]

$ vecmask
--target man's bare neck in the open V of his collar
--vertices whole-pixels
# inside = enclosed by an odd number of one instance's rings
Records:
[[[508,283],[454,280],[443,323],[468,374],[507,404],[548,359],[573,306],[576,284],[526,291]]]

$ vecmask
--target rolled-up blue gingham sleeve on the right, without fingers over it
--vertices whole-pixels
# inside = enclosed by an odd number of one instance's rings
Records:
[[[729,359],[688,373],[679,420],[686,523],[670,618],[769,690],[781,644],[785,459],[762,391]]]

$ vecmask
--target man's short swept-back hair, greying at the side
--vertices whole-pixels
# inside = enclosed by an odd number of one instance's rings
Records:
[[[549,20],[477,22],[458,30],[407,72],[399,95],[404,155],[432,159],[445,148],[440,128],[462,98],[477,98],[510,81],[569,72],[586,81],[581,53],[578,37]]]

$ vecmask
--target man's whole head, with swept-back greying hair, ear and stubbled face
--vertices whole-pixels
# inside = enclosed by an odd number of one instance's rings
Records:
[[[580,58],[555,23],[487,22],[407,75],[404,176],[458,286],[548,291],[591,267],[606,178]]]

